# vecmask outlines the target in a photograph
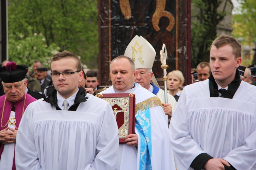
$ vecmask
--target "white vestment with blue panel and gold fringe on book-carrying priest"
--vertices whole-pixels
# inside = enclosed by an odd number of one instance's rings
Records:
[[[168,124],[159,99],[147,89],[134,83],[135,87],[122,93],[136,95],[135,133],[137,148],[119,144],[118,169],[120,170],[175,170],[173,152],[168,139]],[[102,94],[120,93],[113,86]]]

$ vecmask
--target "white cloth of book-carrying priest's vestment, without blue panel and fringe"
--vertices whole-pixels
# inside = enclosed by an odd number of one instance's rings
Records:
[[[113,86],[101,92],[103,94],[120,93],[114,90]],[[133,93],[136,95],[136,104],[141,103],[155,95],[141,85],[135,83],[135,87],[121,93]],[[168,124],[165,113],[161,106],[150,108],[151,122],[151,137],[152,137],[152,155],[151,165],[153,170],[175,170],[173,152],[170,147]],[[138,129],[135,126],[135,133],[138,134]],[[138,135],[138,151],[140,151],[140,137]],[[139,156],[137,148],[126,144],[119,144],[118,169],[120,170],[135,170],[139,167]],[[138,158],[138,159],[137,159]],[[147,169],[145,167],[145,169]]]

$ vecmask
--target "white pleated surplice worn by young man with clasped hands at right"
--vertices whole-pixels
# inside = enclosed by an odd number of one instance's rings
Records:
[[[233,99],[210,97],[209,80],[185,86],[170,122],[177,169],[192,169],[201,153],[256,169],[255,96],[256,87],[244,81]]]

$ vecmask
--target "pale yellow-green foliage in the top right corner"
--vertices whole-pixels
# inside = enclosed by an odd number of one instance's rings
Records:
[[[244,45],[256,44],[256,3],[255,0],[240,0],[239,12],[234,14],[232,36],[239,39]],[[255,50],[255,49],[254,49]],[[252,64],[256,62],[256,52]],[[246,63],[245,63],[246,64]]]

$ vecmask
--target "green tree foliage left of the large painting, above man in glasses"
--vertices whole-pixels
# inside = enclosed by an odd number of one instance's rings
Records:
[[[15,46],[10,43],[21,41],[19,44],[27,43],[27,50],[30,51],[37,44],[33,44],[33,39],[36,39],[34,34],[37,34],[38,37],[44,38],[46,51],[68,50],[81,56],[83,64],[97,68],[97,1],[9,0],[8,3],[10,48]],[[20,35],[23,38],[20,38]],[[28,41],[31,41],[31,44]],[[24,52],[29,54],[29,51]],[[39,50],[34,53],[37,53],[36,60],[48,56]]]

